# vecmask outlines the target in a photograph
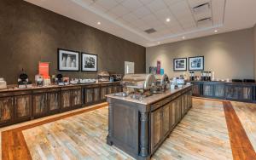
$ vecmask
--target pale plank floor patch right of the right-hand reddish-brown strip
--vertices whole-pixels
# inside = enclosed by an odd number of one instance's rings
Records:
[[[245,129],[249,140],[256,151],[256,105],[241,102],[232,102],[243,129]]]

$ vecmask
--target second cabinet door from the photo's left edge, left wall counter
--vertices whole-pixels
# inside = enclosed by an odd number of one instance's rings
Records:
[[[15,122],[22,122],[32,117],[32,95],[15,96]]]

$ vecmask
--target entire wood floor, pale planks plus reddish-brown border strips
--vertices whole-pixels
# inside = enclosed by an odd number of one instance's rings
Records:
[[[239,131],[232,134],[232,126]],[[256,159],[255,129],[256,105],[194,99],[193,108],[152,159]],[[237,133],[244,136],[237,138]],[[107,134],[108,106],[94,106],[3,131],[2,158],[133,159],[108,146]],[[247,151],[234,147],[241,141]]]

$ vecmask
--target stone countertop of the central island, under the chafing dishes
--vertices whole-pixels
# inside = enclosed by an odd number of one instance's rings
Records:
[[[106,95],[106,97],[112,98],[112,99],[117,99],[117,100],[130,101],[130,102],[134,102],[134,103],[137,103],[137,104],[147,106],[147,105],[153,104],[154,102],[156,102],[158,100],[165,99],[166,97],[168,97],[172,94],[176,94],[177,92],[179,92],[183,89],[187,89],[190,86],[192,86],[192,85],[185,85],[185,86],[183,86],[183,88],[178,88],[178,89],[168,89],[168,90],[166,90],[166,92],[164,92],[162,94],[153,94],[151,96],[148,96],[148,97],[144,98],[143,100],[134,100],[134,99],[131,99],[130,96],[120,97],[120,96],[115,96],[114,94],[108,94],[108,95]]]

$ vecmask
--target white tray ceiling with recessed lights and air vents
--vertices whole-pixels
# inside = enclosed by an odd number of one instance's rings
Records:
[[[256,0],[26,0],[150,47],[253,27]],[[209,3],[197,10],[195,6]],[[197,20],[211,18],[198,22]],[[166,19],[170,19],[166,22]],[[101,25],[97,25],[97,22]],[[148,34],[145,30],[154,28]]]

